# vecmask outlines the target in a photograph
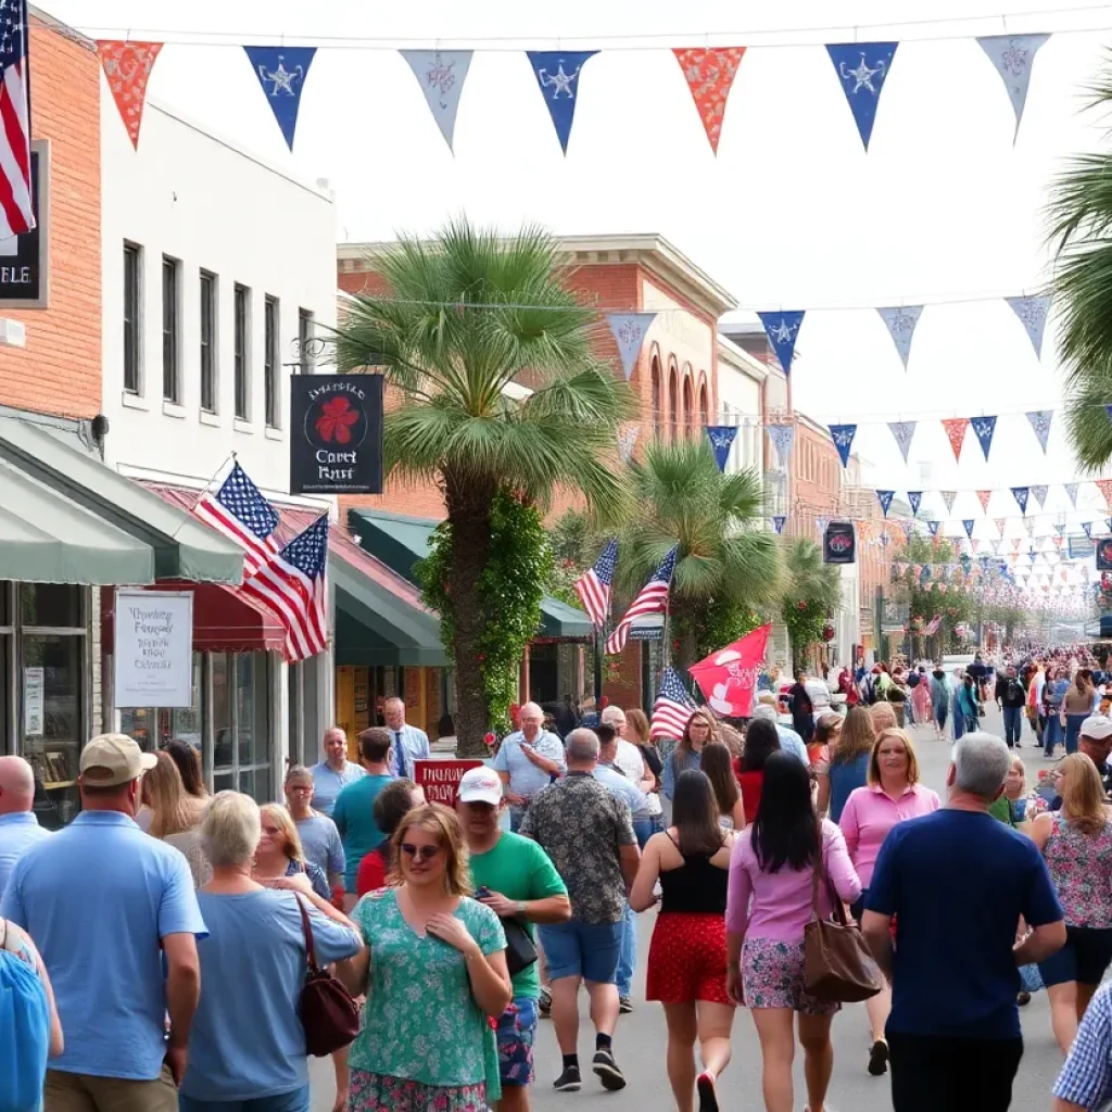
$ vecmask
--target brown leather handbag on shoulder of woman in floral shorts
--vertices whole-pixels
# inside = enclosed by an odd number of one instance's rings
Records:
[[[812,870],[811,922],[803,929],[803,983],[811,995],[840,1004],[856,1004],[884,987],[884,974],[868,952],[856,923],[847,922],[845,907],[826,873],[822,821],[817,824],[818,856]],[[834,922],[818,910],[818,884],[827,885]]]

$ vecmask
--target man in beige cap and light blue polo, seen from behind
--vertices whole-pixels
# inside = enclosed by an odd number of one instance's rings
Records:
[[[81,813],[19,858],[0,902],[0,919],[42,954],[66,1034],[44,1112],[178,1108],[207,932],[186,858],[135,823],[139,777],[155,764],[123,734],[93,737]]]

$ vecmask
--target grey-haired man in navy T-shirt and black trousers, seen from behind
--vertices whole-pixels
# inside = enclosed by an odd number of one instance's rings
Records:
[[[1011,759],[999,737],[966,734],[946,806],[894,826],[876,858],[862,930],[892,979],[895,1112],[1005,1112],[1023,1056],[1019,966],[1065,943],[1042,855],[989,814]],[[1021,916],[1031,934],[1016,945]]]

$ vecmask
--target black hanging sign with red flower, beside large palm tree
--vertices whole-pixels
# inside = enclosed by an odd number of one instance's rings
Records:
[[[290,375],[289,493],[383,493],[383,376]]]

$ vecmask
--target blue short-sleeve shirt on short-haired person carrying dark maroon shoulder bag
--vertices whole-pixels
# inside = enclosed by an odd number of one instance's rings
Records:
[[[198,893],[209,936],[199,943],[201,999],[181,1092],[195,1101],[250,1101],[308,1084],[298,1000],[305,934],[292,892]],[[320,964],[363,942],[305,901]]]

